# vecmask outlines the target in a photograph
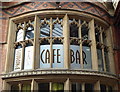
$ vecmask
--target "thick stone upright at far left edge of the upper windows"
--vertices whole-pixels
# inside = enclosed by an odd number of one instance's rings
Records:
[[[7,49],[7,59],[6,59],[6,63],[5,63],[5,73],[8,73],[10,71],[12,71],[13,69],[13,63],[14,63],[14,42],[15,42],[15,37],[16,37],[16,24],[10,20],[10,24],[9,24],[9,35],[8,35],[8,49]]]

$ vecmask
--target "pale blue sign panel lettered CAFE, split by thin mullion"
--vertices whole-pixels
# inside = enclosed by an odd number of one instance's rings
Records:
[[[64,67],[63,45],[56,44],[52,47],[53,52],[53,68]],[[50,68],[50,45],[40,46],[40,68]]]

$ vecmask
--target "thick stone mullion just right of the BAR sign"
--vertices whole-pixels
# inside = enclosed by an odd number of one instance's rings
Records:
[[[91,44],[91,58],[92,58],[92,69],[98,70],[98,60],[97,60],[97,50],[96,50],[96,41],[95,41],[95,27],[94,19],[89,22],[89,37],[92,40]]]

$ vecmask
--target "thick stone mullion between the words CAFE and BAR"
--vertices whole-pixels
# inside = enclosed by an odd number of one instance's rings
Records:
[[[64,68],[69,69],[70,67],[70,39],[69,39],[69,18],[67,14],[63,18],[63,37],[64,37]]]

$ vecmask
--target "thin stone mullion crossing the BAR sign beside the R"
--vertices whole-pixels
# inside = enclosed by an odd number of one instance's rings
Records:
[[[81,68],[83,68],[83,56],[82,56],[82,34],[81,34],[81,22],[79,20],[79,39],[80,39],[80,64],[81,64]]]

